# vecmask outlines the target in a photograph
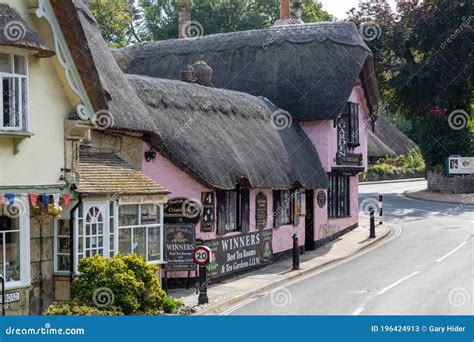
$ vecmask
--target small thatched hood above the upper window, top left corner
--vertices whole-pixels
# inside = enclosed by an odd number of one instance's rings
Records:
[[[8,5],[0,4],[0,46],[13,46],[36,51],[35,56],[47,58],[55,55],[38,33]]]

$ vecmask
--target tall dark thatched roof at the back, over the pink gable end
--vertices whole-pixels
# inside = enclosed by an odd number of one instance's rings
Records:
[[[350,22],[144,42],[114,51],[125,72],[166,79],[177,79],[201,55],[213,68],[213,86],[264,96],[297,120],[336,118],[358,78],[371,109],[378,103],[371,52]]]

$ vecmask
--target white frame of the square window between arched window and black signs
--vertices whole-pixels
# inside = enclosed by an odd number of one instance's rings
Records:
[[[155,223],[155,224],[138,224],[138,225],[130,225],[130,226],[119,226],[118,212],[119,212],[119,207],[120,206],[116,206],[117,207],[117,216],[115,216],[116,217],[116,220],[115,220],[115,223],[116,223],[116,230],[115,230],[115,232],[116,232],[116,234],[115,234],[116,254],[118,254],[120,252],[118,250],[119,249],[118,236],[119,236],[120,230],[131,229],[130,243],[132,244],[132,246],[130,246],[130,250],[133,253],[133,248],[132,248],[133,247],[133,231],[136,228],[145,228],[145,261],[147,262],[147,264],[150,264],[150,265],[162,264],[164,262],[164,255],[163,255],[163,252],[164,252],[164,240],[163,240],[164,239],[164,225],[163,225],[164,207],[163,207],[163,204],[127,203],[127,204],[123,204],[121,206],[128,206],[128,205],[138,205],[138,219],[139,220],[141,220],[141,214],[142,214],[141,206],[142,205],[155,205],[155,206],[157,206],[157,210],[158,210],[158,213],[159,213],[159,216],[160,216],[160,220],[159,220],[158,223]],[[148,261],[148,228],[159,228],[160,229],[160,259],[159,260]]]

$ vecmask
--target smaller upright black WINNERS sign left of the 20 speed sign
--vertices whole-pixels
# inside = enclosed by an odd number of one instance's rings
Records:
[[[194,226],[191,224],[165,224],[165,255],[167,271],[193,271],[196,264]]]

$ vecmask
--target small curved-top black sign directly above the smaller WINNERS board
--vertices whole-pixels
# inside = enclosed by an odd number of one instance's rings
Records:
[[[201,206],[190,198],[171,198],[163,210],[165,223],[197,223]]]

